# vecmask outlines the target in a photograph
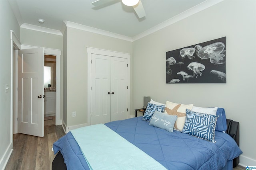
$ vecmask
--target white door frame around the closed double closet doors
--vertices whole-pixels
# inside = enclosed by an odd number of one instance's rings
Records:
[[[128,93],[127,93],[127,107],[128,113],[130,112],[130,58],[131,54],[121,53],[117,51],[109,51],[104,49],[96,49],[92,47],[87,47],[87,68],[88,68],[88,76],[87,76],[87,124],[91,125],[91,60],[92,54],[111,56],[111,57],[120,57],[127,59],[128,69],[127,69],[127,84],[128,84]],[[129,115],[127,115],[129,117]]]

